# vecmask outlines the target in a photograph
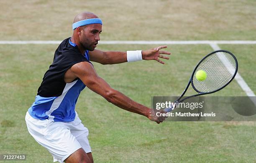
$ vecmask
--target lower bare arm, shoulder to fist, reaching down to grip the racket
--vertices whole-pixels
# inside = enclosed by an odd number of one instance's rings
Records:
[[[150,108],[136,103],[127,96],[111,88],[110,85],[105,82],[105,80],[97,75],[95,69],[90,63],[77,63],[72,66],[71,71],[76,77],[81,79],[88,88],[95,93],[102,95],[102,97],[119,108],[144,115],[156,123],[160,123],[164,120],[162,117],[157,117],[154,111],[152,112]]]

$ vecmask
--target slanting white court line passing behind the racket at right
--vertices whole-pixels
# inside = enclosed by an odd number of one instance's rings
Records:
[[[220,47],[217,44],[210,44],[213,50],[220,50]],[[226,62],[229,62],[228,59],[226,58]],[[230,64],[230,62],[229,62]],[[224,63],[225,65],[225,63]],[[251,96],[255,96],[251,88],[247,85],[247,83],[243,80],[242,76],[239,73],[236,73],[235,80],[237,83],[240,85],[242,90],[246,93],[246,95],[253,101],[253,103],[256,105],[256,101],[251,98]]]

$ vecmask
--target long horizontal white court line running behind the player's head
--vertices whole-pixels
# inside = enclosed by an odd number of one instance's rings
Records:
[[[7,41],[1,40],[0,44],[60,44],[59,40],[45,40],[45,41],[36,41],[36,40],[24,40],[24,41]],[[174,44],[174,45],[194,45],[194,44],[256,44],[256,40],[197,40],[197,41],[99,41],[100,44],[141,44],[141,45],[152,45],[152,44]]]

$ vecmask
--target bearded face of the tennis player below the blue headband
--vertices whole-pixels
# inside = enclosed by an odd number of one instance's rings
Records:
[[[80,43],[84,49],[93,51],[100,40],[101,24],[91,24],[82,27],[79,35]]]

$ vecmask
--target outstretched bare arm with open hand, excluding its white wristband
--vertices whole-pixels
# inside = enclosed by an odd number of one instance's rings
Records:
[[[142,59],[143,60],[156,60],[159,63],[164,64],[163,61],[159,60],[159,58],[169,60],[169,57],[166,57],[162,54],[170,55],[171,53],[167,51],[161,51],[161,49],[167,48],[167,46],[159,46],[156,48],[152,48],[149,50],[142,51]],[[101,63],[103,65],[106,64],[117,64],[127,62],[127,54],[126,52],[114,52],[108,51],[103,52],[101,50],[93,50],[89,52],[90,60],[93,62]]]

